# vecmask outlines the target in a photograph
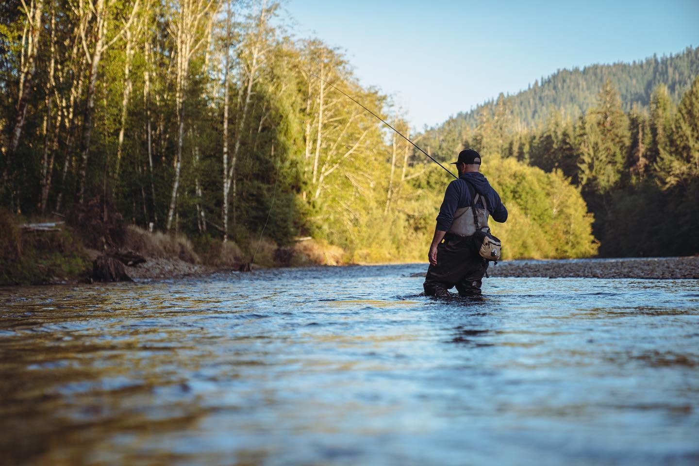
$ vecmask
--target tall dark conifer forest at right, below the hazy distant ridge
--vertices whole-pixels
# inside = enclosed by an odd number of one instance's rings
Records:
[[[675,104],[656,86],[649,108],[624,111],[607,80],[579,117],[550,110],[524,129],[502,96],[474,129],[451,119],[422,135],[438,157],[473,147],[485,159],[514,159],[560,174],[579,189],[595,217],[604,256],[699,252],[699,73]]]

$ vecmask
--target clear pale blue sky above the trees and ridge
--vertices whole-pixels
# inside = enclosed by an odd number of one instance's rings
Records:
[[[418,129],[559,68],[699,45],[699,0],[287,0],[294,34],[343,48]]]

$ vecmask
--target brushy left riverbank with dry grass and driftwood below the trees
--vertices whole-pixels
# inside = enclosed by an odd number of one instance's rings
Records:
[[[36,227],[51,222],[50,228]],[[254,257],[254,261],[253,261]],[[303,238],[278,245],[268,238],[236,242],[149,232],[129,225],[101,198],[64,221],[26,219],[0,210],[0,285],[168,279],[221,270],[344,265],[342,249]]]

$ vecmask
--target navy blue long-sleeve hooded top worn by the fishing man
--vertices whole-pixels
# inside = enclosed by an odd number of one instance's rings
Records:
[[[469,186],[470,185],[470,186]],[[461,207],[468,207],[473,203],[474,190],[486,198],[488,211],[493,220],[504,223],[507,220],[507,209],[500,201],[500,195],[493,189],[487,178],[482,173],[468,172],[454,180],[447,186],[444,201],[437,216],[437,229],[449,231],[454,221],[454,212]]]

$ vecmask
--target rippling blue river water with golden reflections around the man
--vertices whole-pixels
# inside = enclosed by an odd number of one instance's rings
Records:
[[[699,280],[425,269],[0,289],[0,463],[699,463]]]

